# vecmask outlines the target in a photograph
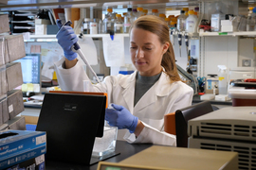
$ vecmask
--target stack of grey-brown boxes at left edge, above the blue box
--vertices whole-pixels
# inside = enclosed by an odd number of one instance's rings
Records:
[[[0,34],[9,32],[9,16],[0,16]],[[24,110],[21,90],[14,90],[23,84],[20,62],[12,62],[26,56],[23,35],[0,36],[0,130],[25,130],[25,118],[16,116]]]

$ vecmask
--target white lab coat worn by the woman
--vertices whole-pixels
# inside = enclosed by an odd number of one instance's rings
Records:
[[[55,70],[61,89],[64,91],[83,91],[82,80],[88,79],[79,62],[64,69],[64,58],[55,63]],[[164,115],[192,105],[192,88],[181,81],[170,83],[165,73],[146,92],[134,107],[135,72],[132,75],[106,76],[103,82],[94,85],[95,92],[108,93],[108,103],[115,103],[130,110],[145,126],[137,136],[125,129],[122,137],[129,143],[151,143],[175,145],[175,135],[168,134],[164,129]],[[120,133],[119,133],[120,135]]]

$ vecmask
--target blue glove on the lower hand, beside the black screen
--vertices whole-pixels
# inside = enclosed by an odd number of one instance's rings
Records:
[[[108,121],[108,124],[113,127],[119,127],[119,129],[127,128],[130,133],[134,133],[138,118],[122,106],[112,104],[112,107],[114,110],[105,110],[105,120]]]

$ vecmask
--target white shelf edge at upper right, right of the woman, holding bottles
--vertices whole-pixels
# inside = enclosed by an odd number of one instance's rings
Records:
[[[199,36],[256,36],[256,31],[243,32],[200,32]]]

